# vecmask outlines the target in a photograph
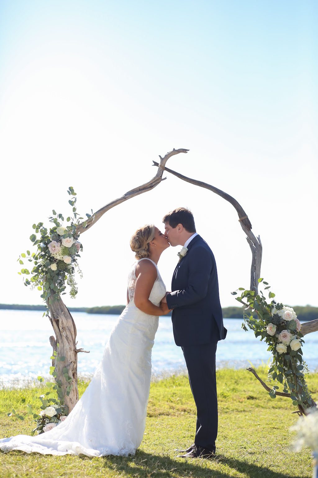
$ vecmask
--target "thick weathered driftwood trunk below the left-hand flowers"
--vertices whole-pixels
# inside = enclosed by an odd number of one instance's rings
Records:
[[[50,322],[53,327],[55,337],[50,337],[50,343],[53,351],[57,352],[57,358],[65,357],[64,361],[52,360],[52,366],[55,367],[57,379],[62,382],[62,391],[64,393],[64,405],[68,407],[69,412],[72,411],[78,402],[77,388],[77,350],[76,350],[76,326],[72,315],[63,304],[59,302],[48,301],[50,310]],[[59,346],[57,346],[59,344]],[[64,369],[64,371],[63,371]],[[64,374],[68,369],[68,375],[72,381],[68,381]],[[70,391],[69,395],[67,395]]]

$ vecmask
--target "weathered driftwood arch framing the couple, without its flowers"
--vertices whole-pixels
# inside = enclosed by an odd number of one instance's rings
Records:
[[[155,176],[145,183],[144,185],[135,187],[131,189],[127,193],[125,193],[122,197],[115,199],[114,201],[106,204],[101,209],[99,209],[89,220],[86,221],[86,226],[84,227],[83,224],[80,224],[77,228],[77,232],[82,234],[83,232],[90,229],[109,209],[113,208],[114,206],[118,206],[119,204],[131,199],[134,196],[138,196],[143,194],[147,191],[151,191],[156,187],[161,181],[166,178],[163,178],[162,175],[164,171],[173,174],[174,176],[186,181],[190,184],[204,187],[205,189],[209,189],[213,193],[217,194],[218,196],[223,197],[226,201],[232,204],[235,207],[236,212],[238,214],[238,220],[241,224],[243,231],[246,234],[246,240],[250,246],[252,252],[252,263],[251,263],[251,275],[250,275],[250,290],[254,290],[256,293],[258,291],[258,279],[260,278],[260,269],[261,269],[261,262],[262,262],[262,243],[260,237],[255,237],[252,232],[252,225],[251,222],[244,211],[243,207],[236,201],[236,199],[229,194],[221,191],[220,189],[216,188],[215,186],[209,185],[207,183],[203,183],[202,181],[198,181],[195,179],[188,178],[182,174],[179,174],[171,169],[165,167],[168,159],[174,156],[175,154],[179,153],[187,153],[189,150],[187,149],[173,149],[162,158],[160,157],[160,163],[153,162],[154,166],[158,167],[157,173]],[[65,405],[69,407],[69,411],[72,410],[76,402],[78,401],[78,388],[77,388],[77,354],[79,352],[86,352],[85,350],[76,348],[76,326],[72,315],[70,314],[66,305],[61,301],[50,303],[48,301],[48,307],[50,310],[50,322],[53,327],[55,337],[50,337],[50,343],[53,348],[53,351],[56,351],[58,356],[64,356],[65,361],[63,362],[63,366],[69,369],[69,374],[72,376],[72,390],[69,396],[65,396]],[[302,325],[302,333],[306,335],[310,332],[314,332],[318,330],[318,319],[312,320],[310,322],[306,322]],[[59,348],[57,348],[57,343],[59,344]],[[65,364],[65,365],[64,365]],[[57,378],[62,381],[62,388],[66,390],[66,387],[69,385],[66,382],[63,373],[59,370],[59,364],[56,359],[52,360],[52,365],[56,367],[56,371],[58,373]],[[252,371],[253,369],[250,369]],[[256,372],[253,370],[254,375]],[[259,377],[256,378],[259,379]],[[260,380],[261,381],[261,380]],[[262,383],[262,381],[261,381]],[[265,388],[267,386],[262,383]],[[287,394],[284,394],[287,395]]]

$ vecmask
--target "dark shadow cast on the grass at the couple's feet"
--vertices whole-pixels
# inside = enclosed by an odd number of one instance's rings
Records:
[[[85,459],[84,457],[82,457]],[[87,457],[86,457],[87,458]],[[249,478],[289,478],[290,474],[278,473],[267,467],[259,467],[253,463],[227,458],[226,456],[215,456],[211,460],[201,458],[175,460],[169,456],[152,455],[137,451],[135,456],[105,456],[103,468],[116,470],[120,473],[126,473],[131,477],[150,478],[150,477],[191,477],[191,478],[228,478],[231,476],[230,470],[220,471],[220,465],[232,468],[233,475],[237,472],[245,474]],[[214,466],[215,465],[215,466]],[[302,478],[295,476],[294,478]]]

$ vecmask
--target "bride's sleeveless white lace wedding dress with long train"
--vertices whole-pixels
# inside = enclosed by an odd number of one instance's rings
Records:
[[[137,263],[128,278],[130,302],[113,327],[91,383],[70,415],[41,435],[3,438],[1,450],[87,456],[135,453],[144,436],[151,349],[158,328],[158,317],[145,314],[133,303]],[[149,300],[159,305],[164,294],[158,271]]]

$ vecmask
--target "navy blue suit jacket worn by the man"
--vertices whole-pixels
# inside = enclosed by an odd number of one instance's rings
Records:
[[[176,345],[207,344],[226,337],[212,250],[197,235],[174,269],[167,304]]]

